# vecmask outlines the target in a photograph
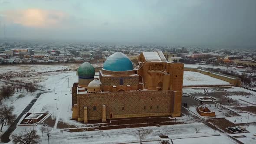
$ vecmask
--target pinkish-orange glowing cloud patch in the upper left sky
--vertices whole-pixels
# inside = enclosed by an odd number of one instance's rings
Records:
[[[7,22],[29,27],[56,27],[69,16],[62,11],[26,9],[0,12]]]

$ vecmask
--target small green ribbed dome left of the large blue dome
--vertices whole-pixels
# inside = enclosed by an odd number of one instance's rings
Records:
[[[84,62],[77,69],[79,78],[94,78],[95,69],[89,62]]]

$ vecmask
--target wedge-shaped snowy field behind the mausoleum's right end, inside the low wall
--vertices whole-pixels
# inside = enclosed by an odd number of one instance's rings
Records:
[[[213,78],[200,72],[184,71],[183,85],[229,85],[229,82]]]

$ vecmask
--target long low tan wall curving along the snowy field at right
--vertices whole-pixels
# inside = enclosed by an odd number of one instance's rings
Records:
[[[191,71],[191,72],[200,72],[204,75],[209,75],[216,79],[221,79],[223,81],[229,82],[232,85],[240,86],[241,85],[241,79],[231,76],[231,75],[224,75],[219,72],[212,72],[206,69],[195,69],[195,68],[184,68],[184,71]]]

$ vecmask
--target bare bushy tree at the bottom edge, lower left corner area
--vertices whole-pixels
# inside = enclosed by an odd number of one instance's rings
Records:
[[[36,130],[24,129],[19,134],[12,134],[13,144],[39,144],[40,137]]]

